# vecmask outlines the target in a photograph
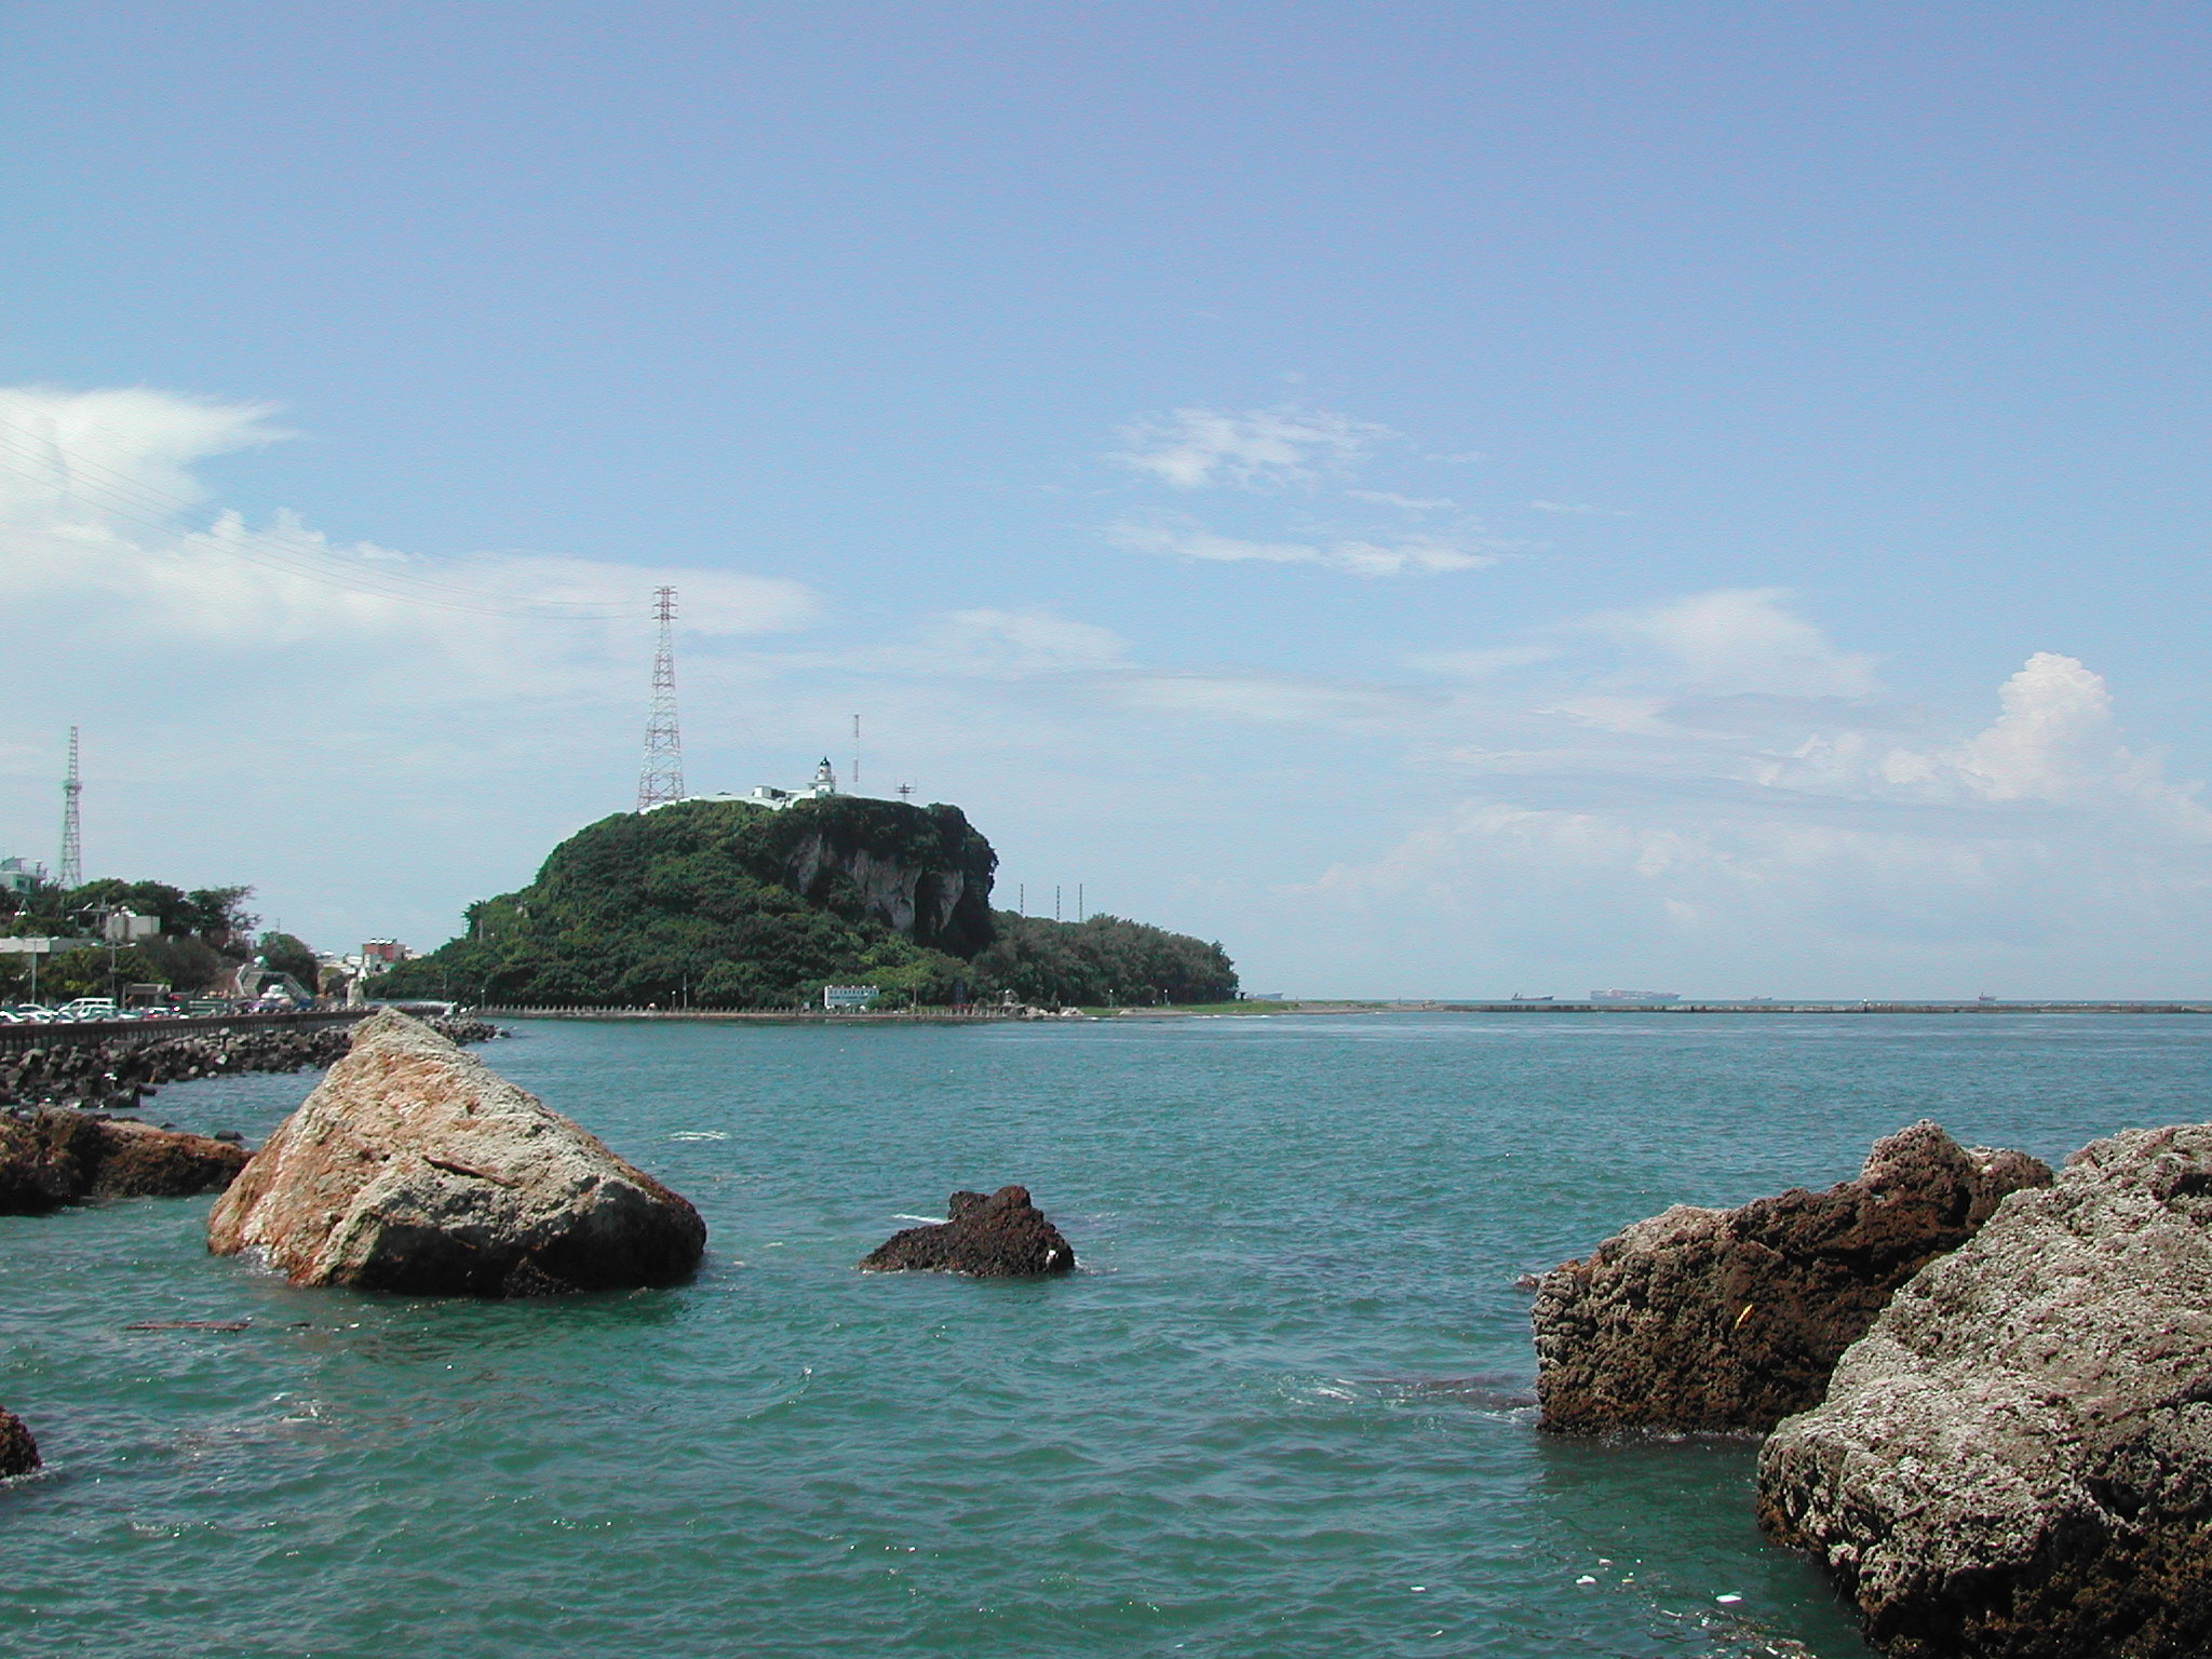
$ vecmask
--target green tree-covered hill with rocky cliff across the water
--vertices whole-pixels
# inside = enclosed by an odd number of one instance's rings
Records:
[[[991,911],[998,854],[958,807],[827,796],[783,812],[681,801],[557,845],[538,880],[372,998],[511,1006],[779,1009],[823,984],[883,1004],[1190,1002],[1234,995],[1217,945],[1108,916]]]

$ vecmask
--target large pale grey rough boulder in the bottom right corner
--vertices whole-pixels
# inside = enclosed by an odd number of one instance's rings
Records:
[[[2095,1141],[1905,1285],[1759,1522],[1891,1655],[2212,1648],[2212,1124]]]

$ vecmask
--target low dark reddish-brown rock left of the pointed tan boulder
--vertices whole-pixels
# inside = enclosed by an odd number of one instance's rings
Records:
[[[221,1192],[241,1168],[246,1148],[208,1135],[60,1106],[0,1113],[0,1214],[44,1214],[86,1199]]]

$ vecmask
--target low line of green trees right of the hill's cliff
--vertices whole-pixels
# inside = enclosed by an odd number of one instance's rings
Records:
[[[1119,916],[1046,922],[998,911],[998,938],[975,956],[975,973],[1022,1002],[1152,1006],[1228,1002],[1237,969],[1219,945]]]

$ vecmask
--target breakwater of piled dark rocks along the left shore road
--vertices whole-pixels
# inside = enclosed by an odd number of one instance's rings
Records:
[[[352,1042],[361,1011],[234,1020],[9,1026],[0,1037],[0,1106],[135,1110],[161,1084],[248,1071],[327,1066]],[[484,1042],[482,1020],[434,1018],[453,1042]]]

